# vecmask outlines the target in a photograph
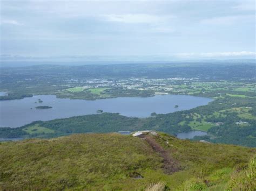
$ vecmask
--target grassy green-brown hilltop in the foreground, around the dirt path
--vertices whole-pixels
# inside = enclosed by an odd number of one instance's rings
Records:
[[[145,140],[116,133],[0,143],[0,190],[255,189],[255,148],[164,133],[153,139],[178,172],[165,174],[163,158]]]

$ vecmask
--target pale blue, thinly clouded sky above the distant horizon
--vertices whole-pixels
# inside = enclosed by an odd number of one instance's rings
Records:
[[[1,59],[255,58],[254,0],[0,0]]]

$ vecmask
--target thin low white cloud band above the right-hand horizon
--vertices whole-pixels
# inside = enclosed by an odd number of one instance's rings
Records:
[[[241,52],[204,52],[204,53],[179,53],[176,54],[178,57],[229,57],[229,56],[256,56],[256,52],[248,52],[248,51],[241,51]]]

